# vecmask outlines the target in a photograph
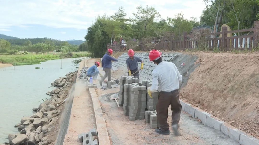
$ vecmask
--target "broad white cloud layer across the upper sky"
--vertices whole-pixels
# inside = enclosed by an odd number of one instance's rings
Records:
[[[163,19],[167,16],[174,17],[181,11],[187,19],[191,16],[199,19],[205,8],[203,0],[6,0],[0,5],[2,12],[8,12],[0,15],[0,29],[8,30],[14,25],[26,28],[28,24],[41,24],[53,28],[85,30],[98,15],[113,15],[119,6],[123,6],[127,17],[132,17],[139,5],[155,7]]]

